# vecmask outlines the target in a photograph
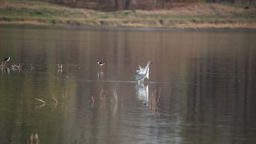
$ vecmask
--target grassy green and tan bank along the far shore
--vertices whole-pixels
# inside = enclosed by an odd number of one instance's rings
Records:
[[[60,4],[0,1],[0,24],[155,28],[256,28],[256,6],[186,3],[172,9],[98,10]]]

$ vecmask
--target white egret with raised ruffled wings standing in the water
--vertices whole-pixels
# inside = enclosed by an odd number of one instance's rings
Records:
[[[136,78],[136,80],[138,80],[138,82],[143,83],[145,77],[147,77],[147,79],[149,79],[149,64],[152,64],[152,62],[148,61],[147,66],[144,68],[139,66],[140,70],[137,70],[135,72],[135,78]]]

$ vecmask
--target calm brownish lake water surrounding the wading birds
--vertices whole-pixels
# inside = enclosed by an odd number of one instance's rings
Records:
[[[8,55],[1,144],[256,143],[256,31],[0,25]]]

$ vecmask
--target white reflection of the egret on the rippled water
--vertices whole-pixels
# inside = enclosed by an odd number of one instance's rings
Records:
[[[149,100],[149,85],[144,86],[143,83],[137,83],[135,86],[136,96],[140,101],[143,101],[144,104],[148,104]]]

